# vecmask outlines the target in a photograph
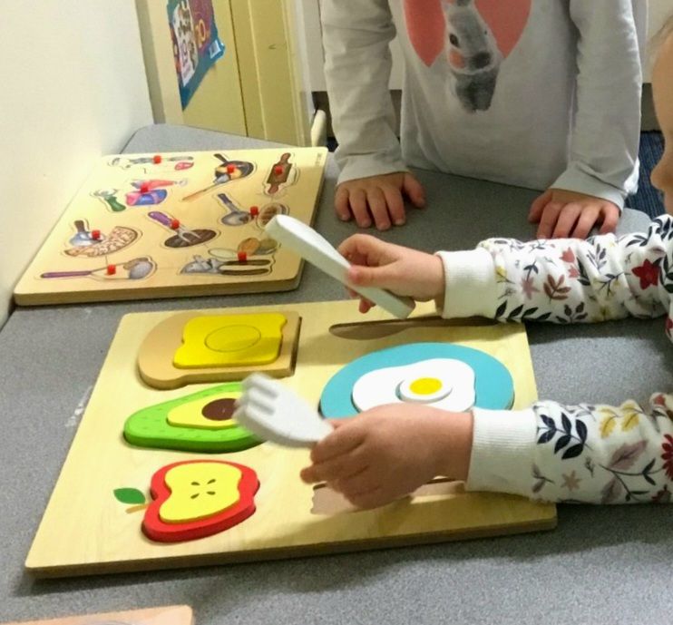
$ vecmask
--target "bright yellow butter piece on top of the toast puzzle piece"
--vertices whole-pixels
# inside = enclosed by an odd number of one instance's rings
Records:
[[[268,365],[278,358],[287,319],[279,313],[190,319],[173,356],[181,369]]]

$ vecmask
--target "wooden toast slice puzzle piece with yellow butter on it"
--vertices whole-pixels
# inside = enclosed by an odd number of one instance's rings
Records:
[[[299,324],[299,316],[292,311],[179,313],[145,337],[138,353],[138,370],[146,384],[162,389],[242,380],[256,371],[288,376],[297,351]]]

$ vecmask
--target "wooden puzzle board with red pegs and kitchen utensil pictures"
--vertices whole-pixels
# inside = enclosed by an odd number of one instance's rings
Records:
[[[302,260],[264,234],[313,221],[327,149],[102,158],[15,288],[18,304],[296,288]]]

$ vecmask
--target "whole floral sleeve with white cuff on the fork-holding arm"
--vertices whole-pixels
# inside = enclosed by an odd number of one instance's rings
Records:
[[[468,490],[577,503],[668,503],[673,396],[635,402],[474,411]]]

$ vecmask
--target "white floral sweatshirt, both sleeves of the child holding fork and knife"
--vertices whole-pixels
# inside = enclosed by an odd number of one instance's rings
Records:
[[[667,315],[673,340],[673,218],[647,234],[586,241],[489,239],[439,252],[444,317],[592,323]],[[560,405],[474,409],[469,490],[584,503],[668,503],[673,480],[673,396],[649,406]]]

